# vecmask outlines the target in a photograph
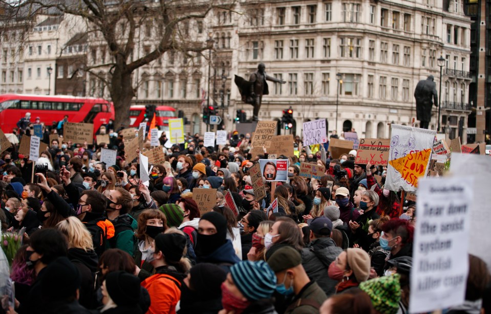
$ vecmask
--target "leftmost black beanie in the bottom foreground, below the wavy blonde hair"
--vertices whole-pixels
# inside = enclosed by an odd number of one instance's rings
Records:
[[[80,288],[80,274],[70,260],[58,257],[46,267],[48,280],[41,280],[42,296],[49,300],[63,300],[75,295]]]

